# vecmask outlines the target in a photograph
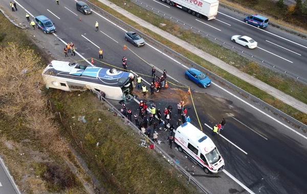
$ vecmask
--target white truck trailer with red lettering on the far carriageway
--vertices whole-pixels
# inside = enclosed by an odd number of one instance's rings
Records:
[[[160,0],[170,6],[176,6],[196,17],[207,17],[208,20],[214,19],[217,14],[217,0]]]

